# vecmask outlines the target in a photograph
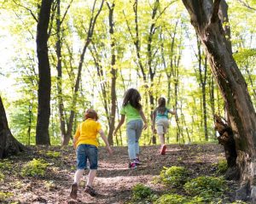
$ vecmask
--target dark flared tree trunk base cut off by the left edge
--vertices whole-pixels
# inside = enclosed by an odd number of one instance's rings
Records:
[[[25,147],[14,138],[9,130],[3,101],[0,96],[0,159],[15,155],[23,150],[25,150]]]

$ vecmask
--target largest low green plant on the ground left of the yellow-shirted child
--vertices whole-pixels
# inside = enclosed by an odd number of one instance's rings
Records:
[[[44,176],[48,163],[42,159],[33,159],[22,167],[22,176]]]

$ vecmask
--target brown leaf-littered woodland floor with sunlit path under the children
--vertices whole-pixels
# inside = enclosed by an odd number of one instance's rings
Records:
[[[131,188],[138,183],[145,184],[161,195],[167,189],[162,184],[155,184],[154,178],[160,175],[162,167],[183,166],[189,169],[190,178],[197,176],[216,175],[214,164],[224,158],[224,149],[220,144],[188,144],[167,145],[165,156],[160,156],[159,146],[142,146],[141,160],[143,165],[137,169],[128,168],[127,147],[113,147],[114,154],[109,157],[107,150],[99,150],[99,169],[94,182],[96,197],[84,193],[83,178],[79,188],[79,199],[73,201],[69,198],[70,185],[73,183],[75,172],[75,153],[71,146],[61,147],[30,147],[30,151],[20,156],[9,158],[12,169],[3,171],[4,183],[0,183],[0,191],[13,195],[1,203],[125,203],[131,199]],[[61,152],[55,158],[47,156],[48,151]],[[44,158],[49,162],[47,173],[42,178],[22,177],[20,169],[32,158]],[[2,162],[2,161],[0,161]],[[86,175],[88,172],[85,172]],[[234,200],[236,182],[229,183],[229,192],[226,197]],[[228,203],[228,202],[227,202]]]

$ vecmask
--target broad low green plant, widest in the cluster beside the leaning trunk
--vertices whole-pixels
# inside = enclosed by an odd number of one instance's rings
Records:
[[[199,195],[206,201],[209,201],[212,197],[222,195],[224,189],[224,178],[202,176],[194,178],[184,184],[184,190],[186,190],[189,195]]]

